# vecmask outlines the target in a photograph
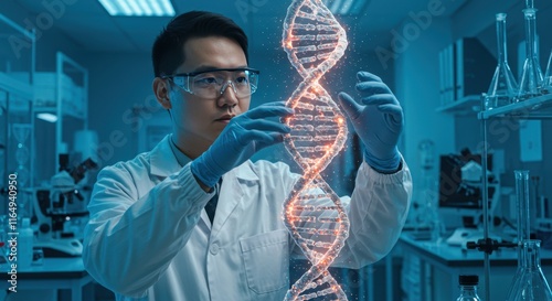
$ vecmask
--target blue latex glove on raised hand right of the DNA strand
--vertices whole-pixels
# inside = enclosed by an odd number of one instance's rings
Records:
[[[363,105],[340,93],[341,106],[365,146],[367,163],[383,173],[395,172],[401,162],[396,143],[403,129],[403,109],[380,77],[368,72],[359,72],[357,77]]]

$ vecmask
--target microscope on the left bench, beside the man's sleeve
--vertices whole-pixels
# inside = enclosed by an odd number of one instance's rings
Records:
[[[42,248],[45,257],[73,257],[83,252],[82,228],[88,218],[86,209],[86,172],[96,169],[92,159],[86,159],[68,169],[68,155],[60,155],[60,172],[52,176],[50,187],[34,191],[33,206],[38,223],[35,247]],[[84,222],[83,222],[84,221]]]

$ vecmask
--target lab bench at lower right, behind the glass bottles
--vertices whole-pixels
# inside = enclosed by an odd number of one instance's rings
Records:
[[[401,288],[404,301],[455,300],[459,295],[458,276],[478,275],[479,295],[482,290],[485,254],[463,249],[440,241],[416,239],[403,233],[399,245],[403,252]],[[552,279],[552,250],[541,248],[541,267],[544,276]],[[501,248],[489,256],[490,295],[492,300],[506,300],[509,286],[518,268],[514,248]]]

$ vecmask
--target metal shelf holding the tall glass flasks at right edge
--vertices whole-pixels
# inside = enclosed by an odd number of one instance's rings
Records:
[[[552,94],[513,103],[491,110],[480,111],[479,119],[514,117],[519,119],[552,118]]]

